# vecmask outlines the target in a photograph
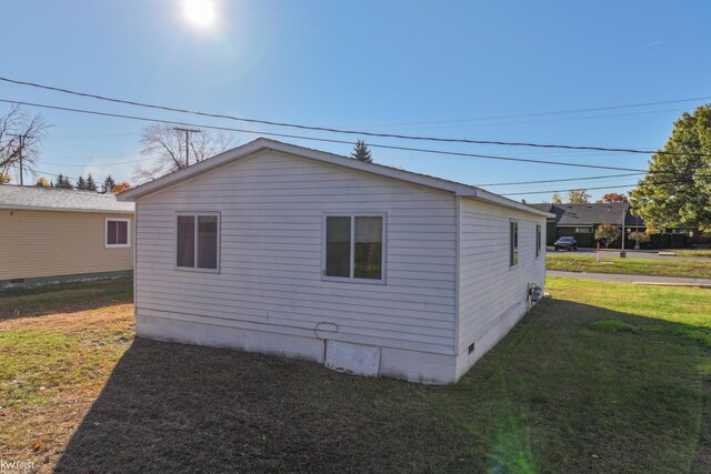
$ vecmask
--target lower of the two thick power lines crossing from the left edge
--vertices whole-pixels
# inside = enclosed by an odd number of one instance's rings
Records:
[[[162,120],[162,119],[139,117],[139,115],[128,115],[128,114],[121,114],[121,113],[100,112],[94,110],[76,109],[76,108],[59,107],[59,105],[48,105],[48,104],[41,104],[36,102],[26,102],[26,101],[17,101],[17,100],[8,100],[8,99],[0,99],[0,102],[14,103],[14,104],[28,105],[28,107],[38,107],[38,108],[50,109],[50,110],[60,110],[64,112],[84,113],[90,115],[138,120],[143,122],[167,123],[171,125],[186,125],[186,127],[197,127],[197,128],[211,129],[211,130],[251,133],[254,135],[269,135],[269,137],[291,138],[291,139],[298,139],[298,140],[310,140],[310,141],[326,142],[326,143],[352,144],[352,142],[346,141],[346,140],[323,139],[323,138],[297,135],[297,134],[290,134],[290,133],[277,133],[277,132],[266,132],[266,131],[258,131],[258,130],[236,129],[230,127],[197,124],[191,122]],[[647,172],[647,170],[640,170],[634,168],[604,167],[601,164],[583,164],[583,163],[570,163],[570,162],[561,162],[561,161],[533,160],[533,159],[512,158],[512,157],[502,157],[502,155],[492,155],[492,154],[443,151],[443,150],[422,149],[422,148],[412,148],[412,147],[398,147],[398,145],[388,145],[388,144],[380,144],[380,143],[369,143],[368,145],[371,148],[380,148],[385,150],[413,151],[413,152],[420,152],[420,153],[441,154],[441,155],[461,157],[461,158],[479,158],[479,159],[485,159],[485,160],[500,160],[500,161],[511,161],[511,162],[520,162],[520,163],[549,164],[549,165],[572,167],[572,168],[589,168],[589,169],[597,169],[597,170],[629,171],[629,172],[640,172],[640,173]],[[664,173],[677,174],[674,172],[664,172]]]

